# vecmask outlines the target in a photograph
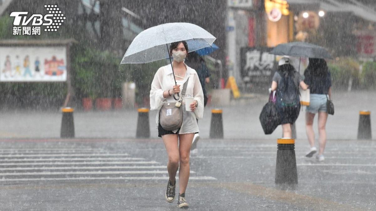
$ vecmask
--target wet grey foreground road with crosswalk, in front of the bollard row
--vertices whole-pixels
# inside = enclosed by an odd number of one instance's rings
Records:
[[[177,210],[164,199],[159,139],[3,139],[1,210]],[[276,185],[276,140],[201,139],[190,210],[375,210],[375,141],[329,140],[324,162],[296,140],[299,183]],[[177,190],[178,191],[178,188]]]

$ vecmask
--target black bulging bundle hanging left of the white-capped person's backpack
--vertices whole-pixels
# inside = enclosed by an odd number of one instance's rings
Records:
[[[265,134],[271,134],[281,124],[280,116],[276,110],[276,104],[269,101],[261,110],[260,123]]]

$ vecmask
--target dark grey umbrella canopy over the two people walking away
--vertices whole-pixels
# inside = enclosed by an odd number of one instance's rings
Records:
[[[325,48],[307,42],[289,42],[279,44],[273,48],[270,53],[274,55],[332,59],[332,56]]]

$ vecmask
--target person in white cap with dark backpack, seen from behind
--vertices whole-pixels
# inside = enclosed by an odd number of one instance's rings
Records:
[[[291,138],[291,125],[294,124],[300,112],[299,86],[308,89],[302,76],[297,72],[288,57],[282,57],[278,62],[278,71],[273,76],[271,91],[277,91],[276,108],[280,115],[284,138]]]

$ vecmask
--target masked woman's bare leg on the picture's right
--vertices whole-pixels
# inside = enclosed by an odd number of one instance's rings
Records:
[[[194,133],[179,134],[179,193],[185,193],[190,175],[190,152]]]

